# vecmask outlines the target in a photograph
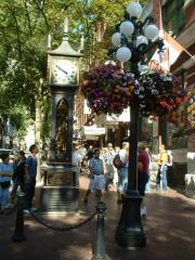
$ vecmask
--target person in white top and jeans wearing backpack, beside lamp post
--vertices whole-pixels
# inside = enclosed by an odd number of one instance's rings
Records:
[[[117,184],[117,194],[118,199],[117,204],[121,204],[121,195],[127,190],[128,184],[128,167],[129,167],[129,143],[123,142],[122,148],[118,153],[119,159],[121,160],[120,166],[118,166],[118,184]]]

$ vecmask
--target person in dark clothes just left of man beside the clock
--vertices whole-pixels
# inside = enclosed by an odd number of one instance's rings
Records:
[[[23,151],[20,151],[17,153],[17,159],[14,162],[13,166],[13,187],[11,192],[11,203],[13,204],[16,197],[16,192],[20,186],[21,191],[24,192],[24,185],[25,185],[25,164],[26,164],[26,157],[25,153]]]

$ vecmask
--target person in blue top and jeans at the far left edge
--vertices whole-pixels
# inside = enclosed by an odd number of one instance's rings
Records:
[[[13,164],[10,164],[10,155],[1,155],[2,162],[0,162],[0,212],[9,208],[9,188],[11,184],[11,177],[13,174]]]

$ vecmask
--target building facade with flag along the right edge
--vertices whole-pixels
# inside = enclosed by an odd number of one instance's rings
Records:
[[[187,101],[178,110],[153,122],[153,143],[172,152],[174,171],[169,184],[195,196],[195,2],[152,0],[145,15],[151,12],[168,36],[168,69],[187,92]]]

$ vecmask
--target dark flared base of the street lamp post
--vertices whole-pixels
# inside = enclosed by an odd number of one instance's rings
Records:
[[[120,247],[139,249],[146,245],[140,214],[142,197],[136,193],[126,194],[122,198],[121,217],[116,230],[116,242]]]

